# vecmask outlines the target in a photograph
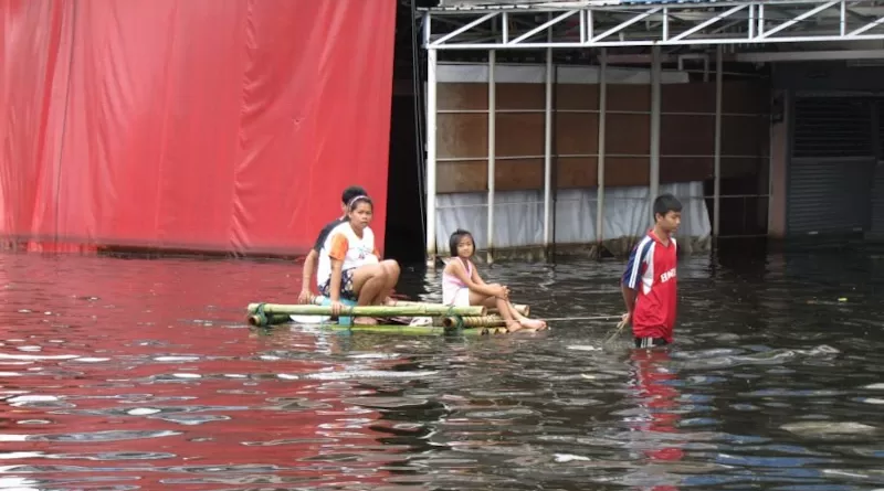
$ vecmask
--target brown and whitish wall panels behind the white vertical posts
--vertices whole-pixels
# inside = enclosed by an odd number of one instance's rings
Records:
[[[495,68],[495,249],[543,244],[545,72],[544,65]],[[557,250],[601,242],[611,253],[623,254],[651,224],[651,76],[646,68],[607,68],[600,183],[599,73],[597,66],[558,66],[554,72],[554,237]],[[707,188],[714,177],[715,84],[691,83],[687,73],[677,71],[664,71],[661,79],[660,192],[673,192],[685,205],[682,243],[706,248],[712,233]],[[438,81],[438,250],[446,254],[448,237],[456,227],[470,228],[483,249],[488,245],[488,66],[443,64]],[[748,212],[738,184],[762,177],[765,192],[767,188],[768,84],[726,82],[723,93],[722,216],[743,222],[740,213]],[[600,184],[606,190],[604,227],[598,237]],[[732,188],[729,199],[725,194]]]

